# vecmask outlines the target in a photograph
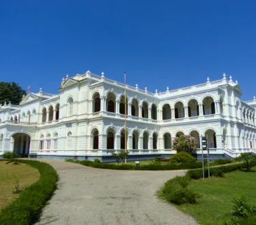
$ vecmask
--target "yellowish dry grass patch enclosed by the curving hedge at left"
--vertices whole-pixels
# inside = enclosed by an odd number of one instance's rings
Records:
[[[40,179],[38,169],[26,164],[14,164],[0,161],[0,211],[13,201],[19,194],[14,194],[16,180],[21,188],[26,188]]]

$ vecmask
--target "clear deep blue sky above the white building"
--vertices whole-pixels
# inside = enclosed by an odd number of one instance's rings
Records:
[[[222,78],[256,95],[255,1],[1,1],[0,81],[57,92],[90,70],[154,92]]]

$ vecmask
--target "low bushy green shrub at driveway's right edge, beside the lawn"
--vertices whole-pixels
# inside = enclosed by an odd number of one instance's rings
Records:
[[[160,191],[160,196],[175,205],[196,203],[197,194],[187,187],[189,181],[188,177],[169,179]]]

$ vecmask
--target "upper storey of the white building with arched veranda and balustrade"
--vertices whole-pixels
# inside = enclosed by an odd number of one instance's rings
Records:
[[[59,94],[29,93],[20,105],[0,106],[1,124],[45,126],[91,118],[116,118],[154,124],[225,119],[255,127],[256,99],[241,101],[242,90],[225,74],[222,80],[148,92],[87,71],[63,78]],[[126,93],[126,94],[125,94]]]

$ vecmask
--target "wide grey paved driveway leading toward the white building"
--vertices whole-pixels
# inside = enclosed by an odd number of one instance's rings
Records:
[[[37,224],[197,224],[156,196],[167,179],[184,171],[115,171],[42,161],[57,170],[59,183]]]

